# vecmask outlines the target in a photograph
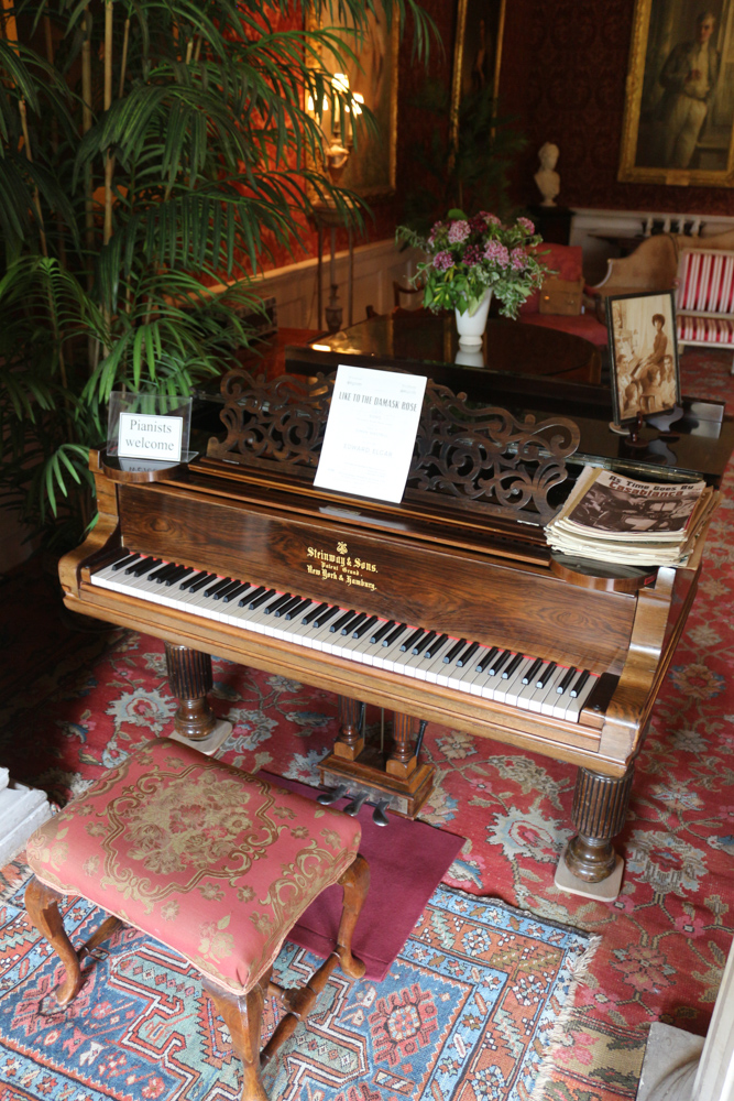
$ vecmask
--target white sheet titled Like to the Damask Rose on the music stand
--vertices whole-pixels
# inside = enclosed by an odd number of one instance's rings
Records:
[[[341,363],[314,484],[399,502],[425,392],[420,375]]]

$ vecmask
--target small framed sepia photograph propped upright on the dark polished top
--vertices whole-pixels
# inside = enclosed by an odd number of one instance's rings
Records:
[[[606,298],[614,423],[664,413],[680,402],[672,291]]]

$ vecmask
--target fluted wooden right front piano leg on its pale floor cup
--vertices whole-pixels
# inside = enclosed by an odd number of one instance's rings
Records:
[[[634,765],[618,777],[579,768],[571,811],[579,832],[566,846],[556,871],[561,891],[605,902],[617,897],[624,860],[612,838],[624,827],[633,775]]]

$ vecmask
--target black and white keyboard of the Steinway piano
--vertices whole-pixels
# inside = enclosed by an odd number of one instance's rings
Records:
[[[588,669],[145,555],[121,552],[91,584],[569,722],[579,721],[599,679]]]

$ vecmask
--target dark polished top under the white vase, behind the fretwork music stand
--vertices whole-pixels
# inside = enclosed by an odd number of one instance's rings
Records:
[[[560,339],[560,344],[557,338]],[[568,346],[567,346],[568,341]],[[637,443],[612,432],[609,383],[577,381],[556,360],[561,346],[581,345],[579,358],[596,349],[581,337],[517,321],[490,320],[483,345],[487,366],[456,362],[457,342],[450,318],[409,314],[371,318],[342,333],[286,347],[285,370],[314,375],[340,363],[407,370],[430,378],[470,401],[499,405],[516,418],[536,421],[569,416],[579,425],[581,442],[573,457],[615,470],[660,479],[699,476],[717,484],[734,449],[734,421],[719,402],[684,396],[683,416],[670,434],[645,424]],[[512,355],[510,349],[512,349]],[[499,366],[502,364],[502,366]]]

